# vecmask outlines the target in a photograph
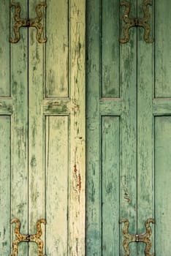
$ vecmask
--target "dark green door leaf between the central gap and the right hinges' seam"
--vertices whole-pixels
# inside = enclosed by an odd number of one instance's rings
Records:
[[[136,30],[119,45],[119,13],[118,1],[88,1],[87,255],[123,253],[120,217],[137,230]]]

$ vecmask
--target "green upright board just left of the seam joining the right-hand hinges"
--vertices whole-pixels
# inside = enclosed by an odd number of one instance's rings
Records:
[[[136,17],[136,1],[130,1]],[[121,20],[123,9],[121,9]],[[121,44],[121,190],[120,218],[129,219],[129,233],[137,231],[137,31],[130,29],[129,42]],[[121,225],[123,228],[123,225]],[[120,253],[123,254],[123,235],[120,235]],[[137,255],[137,245],[130,244],[131,255]]]

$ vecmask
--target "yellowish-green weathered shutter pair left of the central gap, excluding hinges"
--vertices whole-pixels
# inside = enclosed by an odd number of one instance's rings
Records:
[[[36,243],[12,249],[11,219],[25,235],[46,220],[43,255],[85,255],[85,1],[45,2],[46,43],[34,27],[10,43],[15,7],[0,4],[1,256],[38,255]],[[37,4],[20,1],[20,17],[36,18]]]

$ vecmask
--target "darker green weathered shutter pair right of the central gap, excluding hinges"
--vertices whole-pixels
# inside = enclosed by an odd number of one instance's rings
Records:
[[[87,197],[86,255],[129,255],[123,224],[145,233],[151,223],[151,253],[170,255],[171,51],[167,0],[148,5],[153,43],[144,29],[123,37],[120,1],[87,1]],[[142,18],[142,0],[129,0],[130,17]],[[129,244],[145,255],[145,243]]]

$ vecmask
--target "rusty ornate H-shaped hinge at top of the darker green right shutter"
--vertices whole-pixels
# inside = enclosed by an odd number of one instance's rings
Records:
[[[129,18],[129,12],[131,9],[131,5],[128,1],[121,1],[121,6],[125,6],[126,10],[123,13],[123,21],[125,24],[123,25],[122,33],[124,38],[119,39],[119,42],[125,43],[129,42],[129,29],[132,26],[141,26],[144,28],[144,39],[145,42],[153,42],[153,39],[150,38],[151,26],[148,21],[151,18],[150,12],[148,10],[148,5],[152,6],[151,0],[144,0],[142,3],[142,10],[144,12],[144,18]]]

